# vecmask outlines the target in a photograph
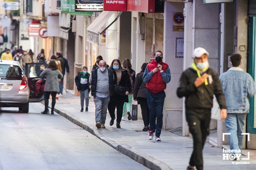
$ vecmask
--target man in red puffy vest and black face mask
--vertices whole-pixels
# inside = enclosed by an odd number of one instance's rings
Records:
[[[166,83],[171,81],[171,72],[168,64],[162,62],[163,53],[156,51],[154,59],[144,71],[143,81],[147,87],[147,101],[149,109],[148,139],[161,141],[160,134],[163,126],[163,107],[165,101]]]

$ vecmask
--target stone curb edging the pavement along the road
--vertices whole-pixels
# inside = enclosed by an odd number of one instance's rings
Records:
[[[49,107],[49,108],[51,108],[51,107]],[[91,134],[93,134],[94,136],[96,136],[97,138],[99,138],[101,141],[105,142],[112,148],[116,149],[117,151],[121,152],[122,154],[124,154],[126,156],[129,156],[134,161],[137,161],[138,163],[146,166],[147,168],[150,168],[152,170],[172,170],[172,168],[169,167],[168,165],[166,165],[165,163],[158,161],[157,159],[155,159],[149,155],[141,153],[140,151],[131,147],[130,145],[117,144],[115,141],[113,141],[113,140],[105,137],[103,134],[101,134],[96,129],[96,127],[92,126],[91,124],[87,124],[84,121],[79,120],[79,118],[77,118],[73,114],[68,113],[65,110],[58,110],[56,108],[54,108],[54,111],[56,113],[58,113],[59,115],[65,117],[72,123],[82,127],[84,130],[90,132]]]

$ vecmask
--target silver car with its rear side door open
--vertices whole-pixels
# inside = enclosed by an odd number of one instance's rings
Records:
[[[36,94],[40,65],[27,63],[22,68],[18,61],[0,60],[0,107],[19,107],[20,112],[28,113],[29,102],[44,99],[43,91]]]

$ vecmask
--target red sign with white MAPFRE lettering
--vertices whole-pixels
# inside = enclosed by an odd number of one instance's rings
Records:
[[[126,11],[127,0],[104,0],[104,11]]]

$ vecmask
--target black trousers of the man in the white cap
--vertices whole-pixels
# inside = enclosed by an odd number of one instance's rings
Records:
[[[203,170],[203,148],[209,134],[211,109],[186,109],[186,120],[193,135],[194,147],[189,165],[196,166],[197,170]]]

